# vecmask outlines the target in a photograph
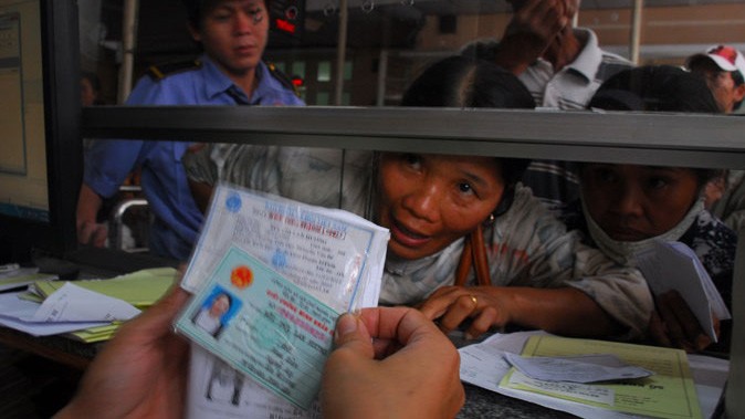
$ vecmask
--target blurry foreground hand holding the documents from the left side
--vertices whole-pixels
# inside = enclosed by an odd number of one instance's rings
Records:
[[[125,323],[96,356],[55,418],[181,418],[188,344],[171,323],[188,298],[178,285]]]

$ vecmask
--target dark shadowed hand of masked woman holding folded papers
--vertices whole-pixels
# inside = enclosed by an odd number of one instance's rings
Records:
[[[695,353],[713,343],[678,291],[671,290],[658,295],[655,304],[657,311],[652,312],[649,332],[657,345]],[[718,336],[720,322],[718,318],[713,318]]]

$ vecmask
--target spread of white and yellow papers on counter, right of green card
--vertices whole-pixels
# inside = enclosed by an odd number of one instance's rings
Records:
[[[727,360],[688,355],[680,349],[558,337],[542,332],[496,334],[459,352],[463,381],[594,419],[628,418],[629,415],[710,418],[722,396],[728,370]],[[608,356],[651,375],[626,378],[627,373],[622,373],[618,378],[597,381],[596,378],[604,378],[596,375],[600,371],[596,368],[598,359],[605,358],[602,363],[607,363]],[[583,357],[596,365],[568,371],[569,377],[543,377],[550,379],[531,377],[511,364],[511,359],[539,359],[534,364],[544,368],[539,374],[558,374],[557,364],[567,359],[581,362]],[[621,364],[610,365],[621,367]],[[529,373],[536,375],[534,370]],[[584,376],[580,373],[585,373]]]

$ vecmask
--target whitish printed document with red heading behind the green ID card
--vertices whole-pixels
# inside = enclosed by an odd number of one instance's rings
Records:
[[[234,245],[330,307],[377,305],[389,232],[354,213],[219,185],[181,286],[197,292]]]

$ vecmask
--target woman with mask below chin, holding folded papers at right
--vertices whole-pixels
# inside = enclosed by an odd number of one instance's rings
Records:
[[[597,92],[591,107],[612,111],[716,113],[706,84],[672,66],[644,66],[621,72]],[[704,210],[703,188],[721,170],[640,165],[585,164],[581,203],[567,224],[619,263],[654,240],[680,241],[696,253],[727,307],[737,238]],[[650,332],[665,346],[701,350],[711,344],[678,294],[658,298]],[[673,315],[673,313],[676,313]],[[717,350],[727,350],[730,325],[723,325]]]

